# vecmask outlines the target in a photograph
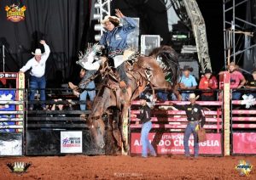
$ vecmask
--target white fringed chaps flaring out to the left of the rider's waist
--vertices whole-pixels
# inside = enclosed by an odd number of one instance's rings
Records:
[[[85,53],[80,52],[79,60],[76,63],[86,69],[86,63],[92,63],[95,59],[100,59],[100,54],[102,54],[102,46],[96,43],[93,46],[88,46]]]

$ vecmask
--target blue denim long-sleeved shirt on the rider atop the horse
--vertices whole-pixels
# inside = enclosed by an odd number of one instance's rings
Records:
[[[124,51],[127,48],[126,38],[135,29],[137,23],[131,18],[124,17],[126,25],[117,26],[113,31],[106,31],[101,37],[100,44],[108,49],[108,53],[113,51]]]

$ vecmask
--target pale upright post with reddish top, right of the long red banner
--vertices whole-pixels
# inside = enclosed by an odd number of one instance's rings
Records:
[[[230,72],[224,72],[224,155],[230,155]]]

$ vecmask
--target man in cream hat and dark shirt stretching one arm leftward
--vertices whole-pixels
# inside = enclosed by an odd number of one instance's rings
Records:
[[[183,145],[185,149],[185,156],[189,157],[189,137],[191,133],[194,136],[194,154],[195,157],[198,157],[199,152],[199,143],[198,143],[198,135],[197,131],[199,127],[203,127],[206,122],[206,117],[204,115],[204,112],[202,110],[202,107],[200,104],[195,104],[195,100],[199,98],[199,96],[195,96],[195,93],[189,94],[189,101],[190,104],[185,105],[177,105],[170,103],[173,107],[177,108],[178,110],[185,110],[187,119],[189,121],[185,132],[184,132],[184,138],[183,138]],[[168,110],[172,109],[172,106],[160,106],[161,110]]]

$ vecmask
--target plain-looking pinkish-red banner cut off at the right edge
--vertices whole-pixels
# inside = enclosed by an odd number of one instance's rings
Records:
[[[256,154],[256,132],[233,132],[234,154]]]

